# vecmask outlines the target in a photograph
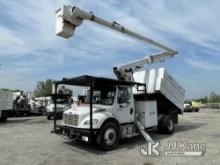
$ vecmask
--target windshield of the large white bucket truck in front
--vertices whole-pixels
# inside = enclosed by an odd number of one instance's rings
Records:
[[[94,89],[93,91],[93,104],[103,104],[103,105],[112,105],[114,103],[115,98],[115,88],[108,89]],[[90,92],[87,91],[85,103],[90,103]]]

